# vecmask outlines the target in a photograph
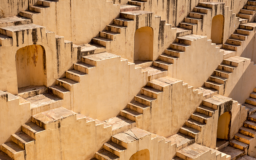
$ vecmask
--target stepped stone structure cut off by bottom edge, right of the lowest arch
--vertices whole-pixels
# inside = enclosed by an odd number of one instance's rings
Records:
[[[185,159],[230,160],[230,156],[212,148],[194,143],[177,151],[176,156],[172,158],[172,160]]]

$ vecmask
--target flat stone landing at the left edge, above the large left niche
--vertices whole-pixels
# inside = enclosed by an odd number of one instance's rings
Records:
[[[23,24],[31,24],[32,20],[21,16],[12,16],[0,19],[0,28],[7,26],[17,26]]]

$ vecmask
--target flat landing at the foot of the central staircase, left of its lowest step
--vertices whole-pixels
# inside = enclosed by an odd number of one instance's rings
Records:
[[[123,116],[116,116],[113,118],[109,118],[104,121],[106,124],[112,126],[112,134],[117,134],[123,132],[127,129],[135,127],[136,123],[130,119],[127,119]]]

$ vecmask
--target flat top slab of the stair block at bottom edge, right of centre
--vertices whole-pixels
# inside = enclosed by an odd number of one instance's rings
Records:
[[[208,157],[210,156],[210,154],[211,154],[211,148],[194,143],[190,146],[187,146],[177,151],[176,156],[186,160],[194,160],[194,159],[200,159],[202,155]]]

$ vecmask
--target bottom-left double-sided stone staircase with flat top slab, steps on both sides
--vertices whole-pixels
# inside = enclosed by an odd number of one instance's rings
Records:
[[[111,126],[104,122],[60,107],[33,115],[31,122],[23,124],[20,132],[11,135],[11,141],[1,144],[0,158],[3,160],[36,159],[35,152],[40,143],[36,141],[42,140],[47,130],[60,128],[63,124],[72,122],[72,119],[94,126],[94,130],[111,131]]]

